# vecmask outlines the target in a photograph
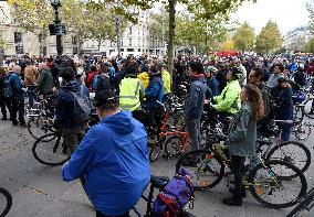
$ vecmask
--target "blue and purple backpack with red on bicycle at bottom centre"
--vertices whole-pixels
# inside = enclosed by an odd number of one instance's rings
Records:
[[[195,188],[190,178],[191,175],[180,169],[159,192],[153,204],[156,217],[181,216],[185,206],[193,203]]]

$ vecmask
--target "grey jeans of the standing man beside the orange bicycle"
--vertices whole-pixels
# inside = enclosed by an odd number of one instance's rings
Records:
[[[200,149],[200,119],[186,119],[186,128],[191,141],[191,151]]]

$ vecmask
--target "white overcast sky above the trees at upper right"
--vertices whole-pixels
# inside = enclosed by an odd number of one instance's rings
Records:
[[[258,0],[244,2],[232,15],[239,22],[248,21],[259,33],[268,20],[275,21],[283,34],[300,25],[307,25],[308,12],[305,2],[314,6],[314,0]]]

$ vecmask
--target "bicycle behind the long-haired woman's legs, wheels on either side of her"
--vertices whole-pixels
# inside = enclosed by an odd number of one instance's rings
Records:
[[[222,180],[226,165],[231,167],[231,160],[228,158],[223,144],[213,142],[208,144],[207,148],[184,154],[176,164],[176,171],[184,167],[192,174],[192,183],[196,189],[214,187]],[[191,165],[185,165],[186,160],[191,159],[195,162]],[[259,163],[252,161],[252,169],[245,166],[244,188],[249,189],[259,203],[271,208],[286,208],[295,205],[307,189],[304,174],[296,166],[285,161],[263,161],[259,156],[257,159]],[[280,174],[281,172],[283,174]],[[286,186],[287,184],[291,186]],[[301,187],[299,187],[300,184]],[[271,196],[276,197],[278,193],[284,189],[287,191],[287,195],[271,198]],[[290,198],[291,195],[292,198]],[[282,202],[279,202],[279,199],[282,199]]]

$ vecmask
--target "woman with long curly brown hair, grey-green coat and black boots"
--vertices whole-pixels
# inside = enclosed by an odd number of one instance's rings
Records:
[[[260,89],[247,84],[240,95],[242,101],[241,110],[234,121],[226,143],[229,145],[232,172],[234,174],[233,196],[224,198],[223,204],[230,206],[242,206],[242,176],[245,156],[255,155],[257,122],[264,117],[264,106]]]

